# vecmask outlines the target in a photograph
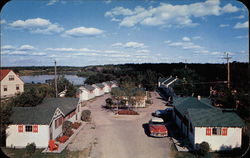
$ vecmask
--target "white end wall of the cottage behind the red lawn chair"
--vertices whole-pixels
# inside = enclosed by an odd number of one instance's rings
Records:
[[[37,148],[48,147],[49,142],[49,126],[38,125],[38,132],[18,132],[18,125],[10,125],[6,130],[6,147],[25,148],[28,143],[35,143]]]

